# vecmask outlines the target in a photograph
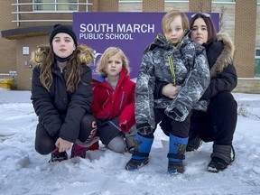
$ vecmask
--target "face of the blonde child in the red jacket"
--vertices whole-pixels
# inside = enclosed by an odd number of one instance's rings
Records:
[[[123,68],[123,60],[118,53],[114,56],[110,56],[107,61],[107,76],[117,77]]]

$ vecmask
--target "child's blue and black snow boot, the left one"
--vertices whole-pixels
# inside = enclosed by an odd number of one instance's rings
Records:
[[[149,153],[152,148],[153,138],[146,138],[142,135],[135,135],[135,146],[132,158],[125,165],[125,170],[135,171],[149,162]]]

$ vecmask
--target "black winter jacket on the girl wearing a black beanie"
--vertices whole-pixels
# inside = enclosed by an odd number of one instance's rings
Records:
[[[67,91],[64,74],[58,66],[51,67],[52,84],[50,92],[40,81],[40,66],[32,70],[32,104],[39,123],[42,123],[51,137],[61,137],[75,143],[79,137],[80,121],[85,113],[89,113],[92,104],[91,70],[82,64],[83,72],[78,88],[70,93]]]

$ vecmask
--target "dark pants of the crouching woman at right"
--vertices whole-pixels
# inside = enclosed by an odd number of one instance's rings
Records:
[[[207,112],[194,111],[190,118],[190,139],[230,145],[237,125],[237,101],[228,91],[210,99]]]

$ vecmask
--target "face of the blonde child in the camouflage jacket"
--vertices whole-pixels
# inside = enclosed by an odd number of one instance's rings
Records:
[[[164,35],[169,42],[172,42],[172,44],[177,45],[181,41],[183,35],[181,15],[176,16],[172,20],[172,23],[170,23],[169,27],[170,29],[168,30],[168,32],[165,32]]]

